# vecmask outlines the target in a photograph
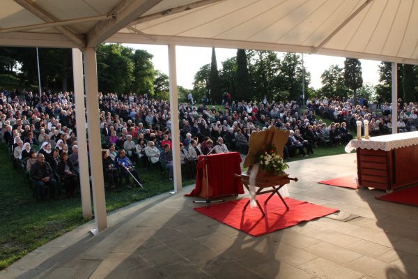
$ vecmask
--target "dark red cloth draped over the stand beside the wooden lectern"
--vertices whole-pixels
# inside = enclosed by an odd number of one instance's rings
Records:
[[[222,197],[225,195],[243,194],[244,187],[241,179],[236,179],[234,174],[241,174],[242,159],[240,153],[230,152],[208,155],[208,182],[209,197]],[[206,185],[204,173],[206,172],[205,156],[199,156],[196,173],[196,186],[189,196],[199,196],[202,187]],[[204,190],[206,197],[206,190]],[[203,195],[201,195],[203,197]]]

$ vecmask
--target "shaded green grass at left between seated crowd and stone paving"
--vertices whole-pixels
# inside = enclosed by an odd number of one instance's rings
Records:
[[[0,270],[28,252],[86,223],[82,218],[80,197],[36,202],[21,172],[13,169],[6,147],[0,145]],[[173,189],[173,183],[162,179],[160,171],[139,170],[146,189],[106,191],[107,211],[114,211],[133,202]],[[183,181],[189,185],[194,181]]]

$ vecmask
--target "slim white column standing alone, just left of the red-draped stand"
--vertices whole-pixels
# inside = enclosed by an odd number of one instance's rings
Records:
[[[174,192],[182,188],[180,164],[180,130],[178,126],[178,89],[176,69],[176,45],[169,45],[169,82],[171,112],[171,142],[173,142]]]

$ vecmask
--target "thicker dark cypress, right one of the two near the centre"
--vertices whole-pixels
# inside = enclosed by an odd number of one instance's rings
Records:
[[[247,54],[245,50],[237,50],[237,71],[235,73],[235,93],[237,98],[251,100],[251,81],[247,66]]]

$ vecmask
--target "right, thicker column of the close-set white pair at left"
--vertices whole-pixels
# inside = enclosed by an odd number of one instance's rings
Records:
[[[98,72],[94,47],[86,47],[84,49],[84,74],[86,78],[88,148],[95,216],[95,230],[92,232],[97,234],[107,227],[107,215],[104,198],[102,142],[100,138]]]

